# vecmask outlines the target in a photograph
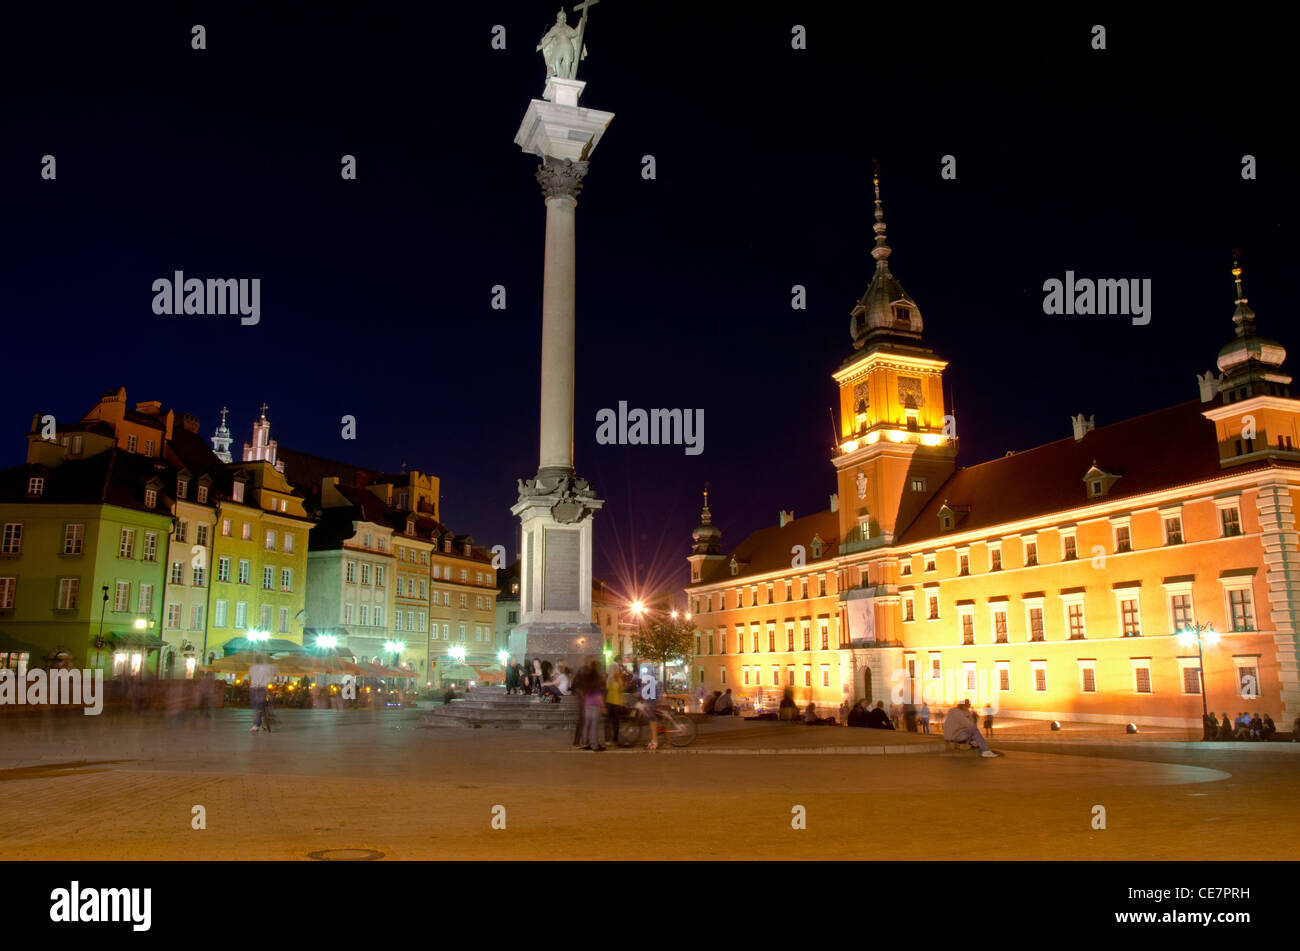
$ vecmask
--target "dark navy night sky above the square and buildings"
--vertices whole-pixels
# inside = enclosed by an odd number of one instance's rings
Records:
[[[1193,399],[1231,336],[1234,248],[1260,333],[1300,348],[1290,23],[715,6],[602,0],[578,70],[582,104],[615,113],[578,199],[575,439],[616,589],[684,583],[706,481],[727,547],[827,505],[874,158],[893,272],[952,361],[962,465],[1066,437],[1072,413]],[[555,9],[6,12],[0,464],[23,460],[32,412],[75,418],[118,385],[204,435],[229,405],[237,447],[265,400],[281,444],[433,472],[443,521],[517,556],[545,205],[512,139]],[[155,316],[178,269],[261,278],[260,325]],[[1044,316],[1067,269],[1150,278],[1152,322]],[[597,446],[619,400],[702,408],[703,453]]]

